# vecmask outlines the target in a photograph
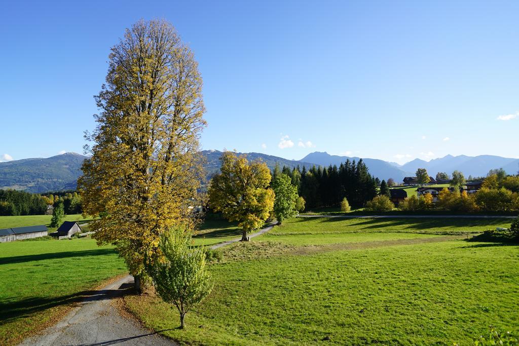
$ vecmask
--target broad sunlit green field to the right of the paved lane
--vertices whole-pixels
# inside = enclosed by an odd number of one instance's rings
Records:
[[[519,325],[519,245],[436,234],[509,224],[288,220],[210,264],[215,287],[187,315],[187,330],[153,295],[126,303],[146,326],[188,344],[471,344],[490,324]]]

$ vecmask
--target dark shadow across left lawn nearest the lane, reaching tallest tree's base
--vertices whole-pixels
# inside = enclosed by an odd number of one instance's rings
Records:
[[[0,325],[58,306],[113,299],[132,292],[134,292],[133,284],[122,284],[118,289],[83,290],[56,297],[35,296],[18,300],[10,299],[0,302]]]

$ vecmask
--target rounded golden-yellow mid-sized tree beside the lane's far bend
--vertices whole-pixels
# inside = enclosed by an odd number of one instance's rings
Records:
[[[263,226],[274,207],[270,171],[265,163],[249,163],[230,151],[225,151],[220,161],[220,174],[209,185],[209,204],[229,221],[238,222],[242,240],[249,240],[247,232]]]

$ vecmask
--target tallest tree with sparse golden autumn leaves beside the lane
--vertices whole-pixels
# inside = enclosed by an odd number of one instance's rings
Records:
[[[206,122],[193,52],[166,21],[139,21],[112,48],[91,158],[78,186],[99,244],[112,243],[140,288],[161,235],[189,224]]]

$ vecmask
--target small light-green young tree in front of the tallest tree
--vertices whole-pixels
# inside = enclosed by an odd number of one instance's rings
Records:
[[[185,327],[186,313],[206,298],[213,287],[205,268],[206,253],[192,247],[192,242],[191,234],[181,228],[165,233],[159,243],[163,258],[148,268],[157,294],[179,310],[180,329]]]

